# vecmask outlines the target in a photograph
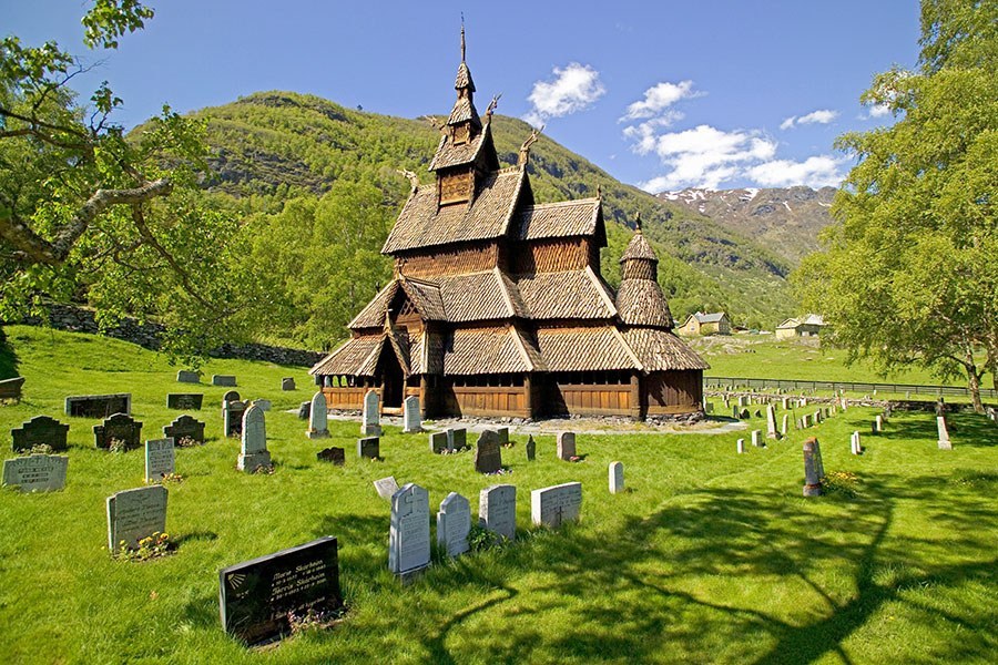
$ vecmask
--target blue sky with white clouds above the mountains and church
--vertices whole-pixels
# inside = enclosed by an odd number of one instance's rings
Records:
[[[416,117],[450,110],[464,12],[480,112],[501,93],[499,113],[655,192],[835,184],[835,137],[893,121],[859,94],[918,52],[914,0],[149,4],[115,52],[83,48],[81,0],[0,0],[0,32],[98,64],[79,89],[110,81],[125,126],[259,90]]]

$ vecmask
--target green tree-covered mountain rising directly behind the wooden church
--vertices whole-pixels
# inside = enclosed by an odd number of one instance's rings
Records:
[[[441,106],[448,104],[441,99]],[[206,121],[212,150],[215,175],[205,184],[233,209],[247,216],[274,215],[293,198],[317,198],[337,181],[348,181],[381,191],[389,226],[409,192],[398,170],[431,182],[427,165],[439,140],[432,122],[446,119],[386,116],[279,91],[251,94],[194,115]],[[503,164],[516,163],[530,131],[520,120],[493,117],[492,134]],[[792,263],[744,232],[681,202],[620,183],[547,136],[531,149],[529,172],[541,203],[602,192],[609,247],[601,265],[613,285],[620,280],[619,258],[640,213],[676,318],[694,310],[724,309],[735,323],[772,326],[793,309],[785,279]],[[384,260],[390,274],[390,264]]]

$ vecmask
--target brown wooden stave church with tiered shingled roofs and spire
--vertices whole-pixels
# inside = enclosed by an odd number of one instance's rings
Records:
[[[617,293],[600,274],[601,198],[536,204],[527,163],[501,168],[465,61],[457,101],[429,171],[381,253],[394,278],[348,325],[350,338],[310,374],[330,410],[379,393],[397,412],[419,397],[424,417],[634,419],[702,411],[709,365],[672,329],[658,257],[637,232]]]

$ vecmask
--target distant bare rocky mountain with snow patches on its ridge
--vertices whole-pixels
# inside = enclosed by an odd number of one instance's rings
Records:
[[[663,192],[659,198],[705,215],[724,228],[750,237],[792,265],[819,248],[818,233],[832,223],[834,187],[700,190]]]

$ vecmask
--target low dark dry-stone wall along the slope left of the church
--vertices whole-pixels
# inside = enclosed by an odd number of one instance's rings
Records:
[[[70,330],[73,332],[90,332],[104,335],[114,339],[122,339],[136,344],[142,348],[153,351],[160,350],[160,337],[165,327],[156,323],[140,323],[133,318],[123,319],[118,326],[101,331],[94,319],[93,310],[72,305],[50,305],[49,323],[45,324],[38,317],[28,317],[20,321],[28,326],[45,326],[57,330]],[[208,352],[212,358],[235,358],[238,360],[263,360],[277,365],[295,365],[312,367],[325,357],[325,354],[306,351],[304,349],[291,349],[265,344],[231,345],[224,344]]]

